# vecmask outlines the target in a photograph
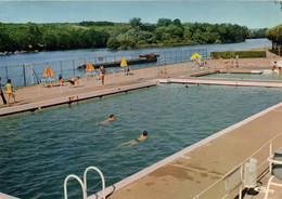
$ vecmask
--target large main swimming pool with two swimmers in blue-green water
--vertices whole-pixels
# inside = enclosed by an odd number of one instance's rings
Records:
[[[269,88],[161,84],[0,120],[0,191],[20,198],[61,199],[68,174],[101,169],[106,186],[233,123],[281,102]],[[115,114],[106,124],[100,121]],[[149,138],[131,147],[121,143]],[[101,189],[89,174],[89,195]],[[81,198],[69,182],[69,198]]]

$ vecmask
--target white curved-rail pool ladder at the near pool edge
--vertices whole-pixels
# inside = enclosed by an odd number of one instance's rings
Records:
[[[103,199],[105,199],[105,178],[104,178],[103,173],[95,167],[89,167],[86,169],[86,171],[84,173],[84,182],[77,175],[74,175],[74,174],[67,175],[67,177],[65,178],[65,182],[64,182],[65,199],[67,199],[67,181],[69,178],[75,178],[78,181],[78,183],[80,184],[80,186],[82,188],[84,199],[87,199],[87,172],[89,170],[94,170],[100,174],[100,176],[102,178],[102,196],[103,196]]]

